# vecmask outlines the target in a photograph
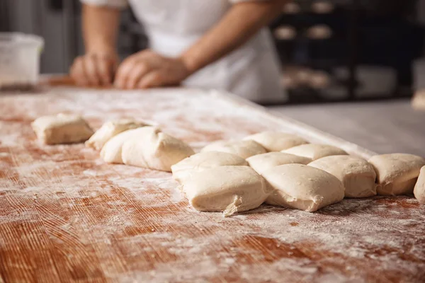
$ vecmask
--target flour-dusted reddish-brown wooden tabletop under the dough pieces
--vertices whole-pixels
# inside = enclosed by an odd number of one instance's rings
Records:
[[[344,200],[317,213],[197,212],[170,173],[106,164],[83,144],[38,144],[30,122],[57,112],[94,128],[152,120],[196,149],[280,129],[373,154],[215,93],[0,96],[0,282],[423,282],[425,206],[413,198]]]

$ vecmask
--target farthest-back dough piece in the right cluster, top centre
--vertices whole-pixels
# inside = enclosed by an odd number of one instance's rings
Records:
[[[301,144],[309,142],[295,134],[286,134],[283,132],[261,132],[244,138],[244,140],[253,140],[261,144],[267,151],[283,151]]]

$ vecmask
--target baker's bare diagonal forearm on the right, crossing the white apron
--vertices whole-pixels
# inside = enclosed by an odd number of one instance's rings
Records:
[[[215,62],[248,41],[282,11],[289,0],[235,4],[224,18],[181,55],[191,73]]]

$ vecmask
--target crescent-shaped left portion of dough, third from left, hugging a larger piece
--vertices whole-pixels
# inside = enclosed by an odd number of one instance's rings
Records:
[[[159,129],[156,127],[140,127],[121,132],[109,141],[106,141],[106,144],[102,147],[101,150],[101,158],[103,158],[103,161],[108,163],[123,164],[121,152],[123,150],[123,144],[125,141],[128,141],[133,137],[153,134],[154,132],[159,132]]]

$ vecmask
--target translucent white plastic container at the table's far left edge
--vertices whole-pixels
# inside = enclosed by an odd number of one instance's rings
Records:
[[[28,89],[38,83],[42,37],[0,33],[0,90]]]

